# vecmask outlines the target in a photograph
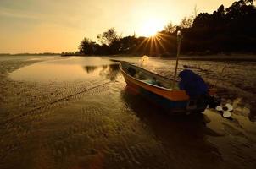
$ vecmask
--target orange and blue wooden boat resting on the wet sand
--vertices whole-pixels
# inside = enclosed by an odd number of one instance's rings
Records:
[[[120,62],[120,71],[128,86],[145,95],[157,105],[168,112],[203,112],[207,106],[205,98],[190,100],[185,90],[180,90],[178,81],[149,72],[134,64]],[[215,90],[209,90],[209,95],[214,95]]]

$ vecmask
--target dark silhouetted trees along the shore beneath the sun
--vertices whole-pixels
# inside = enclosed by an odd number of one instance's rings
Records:
[[[200,13],[171,22],[153,37],[122,37],[114,28],[97,35],[97,40],[84,38],[80,55],[147,54],[168,57],[176,53],[176,32],[181,30],[181,54],[215,54],[220,52],[256,52],[255,0],[240,0],[231,7],[223,5],[213,14]]]

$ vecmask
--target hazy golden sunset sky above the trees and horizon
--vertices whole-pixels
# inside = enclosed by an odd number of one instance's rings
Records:
[[[185,16],[212,14],[235,0],[0,0],[0,53],[75,52],[84,37],[114,27],[118,34],[147,35]]]

